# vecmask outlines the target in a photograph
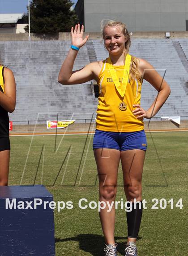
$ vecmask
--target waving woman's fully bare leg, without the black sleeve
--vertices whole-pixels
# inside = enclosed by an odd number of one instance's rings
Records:
[[[113,202],[117,192],[117,174],[120,162],[120,151],[116,149],[94,149],[99,179],[99,201]],[[106,244],[114,244],[115,207],[107,212],[108,207],[99,212]]]

